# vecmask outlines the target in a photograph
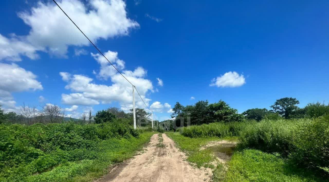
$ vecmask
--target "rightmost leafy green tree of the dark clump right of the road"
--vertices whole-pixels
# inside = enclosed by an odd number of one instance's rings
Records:
[[[217,103],[209,104],[209,122],[215,121],[242,121],[243,115],[238,110],[231,108],[226,102],[220,100]]]

